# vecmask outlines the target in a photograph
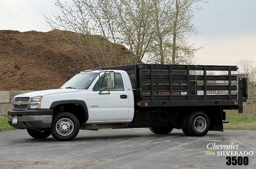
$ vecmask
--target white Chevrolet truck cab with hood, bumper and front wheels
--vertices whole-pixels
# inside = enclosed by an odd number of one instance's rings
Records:
[[[59,140],[68,140],[64,137],[77,134],[83,124],[130,123],[134,117],[131,81],[122,70],[80,72],[60,89],[17,95],[12,104],[11,126],[27,129],[32,137],[56,133]]]

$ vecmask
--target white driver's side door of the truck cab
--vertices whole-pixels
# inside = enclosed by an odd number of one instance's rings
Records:
[[[115,88],[99,94],[99,88],[102,85],[102,90],[105,89],[107,81],[107,78],[99,78],[93,88],[88,91],[88,123],[125,122],[129,118],[129,98],[126,85],[123,83],[123,75],[115,73]]]

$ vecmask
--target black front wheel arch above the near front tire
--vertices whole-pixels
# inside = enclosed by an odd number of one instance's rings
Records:
[[[53,118],[59,112],[70,112],[75,115],[79,120],[80,125],[86,123],[86,113],[81,104],[78,103],[68,103],[68,104],[59,104],[53,108]]]

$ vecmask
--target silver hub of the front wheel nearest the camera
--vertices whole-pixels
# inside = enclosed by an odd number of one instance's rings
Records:
[[[70,119],[63,118],[56,123],[55,127],[58,134],[67,136],[74,130],[74,123]]]

